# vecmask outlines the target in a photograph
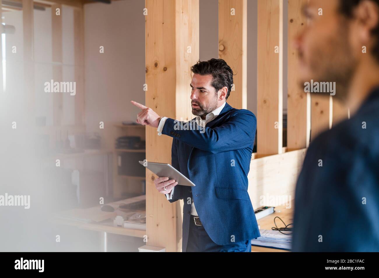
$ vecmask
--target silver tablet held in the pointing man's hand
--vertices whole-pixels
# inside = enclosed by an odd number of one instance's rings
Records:
[[[178,182],[178,185],[195,186],[185,175],[167,163],[139,161],[139,164],[145,166],[158,177],[169,177]]]

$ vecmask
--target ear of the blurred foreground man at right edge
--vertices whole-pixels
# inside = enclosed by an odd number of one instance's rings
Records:
[[[355,12],[360,25],[359,39],[368,45],[373,42],[372,31],[379,25],[379,6],[374,1],[364,0]]]

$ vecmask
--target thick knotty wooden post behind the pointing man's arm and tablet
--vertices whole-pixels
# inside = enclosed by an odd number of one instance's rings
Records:
[[[146,0],[146,106],[189,120],[190,67],[199,59],[199,0]],[[162,39],[164,38],[164,39]],[[142,86],[143,84],[141,84]],[[146,127],[147,161],[171,163],[172,138]],[[180,250],[183,202],[169,203],[146,170],[147,245]]]

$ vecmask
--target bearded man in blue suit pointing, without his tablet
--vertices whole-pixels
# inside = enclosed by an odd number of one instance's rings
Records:
[[[233,71],[222,59],[191,67],[192,113],[187,124],[141,108],[137,122],[157,127],[158,135],[173,138],[172,166],[196,186],[176,186],[159,177],[154,183],[169,202],[183,199],[183,252],[251,252],[251,239],[260,236],[247,193],[257,121],[245,109],[226,103]]]

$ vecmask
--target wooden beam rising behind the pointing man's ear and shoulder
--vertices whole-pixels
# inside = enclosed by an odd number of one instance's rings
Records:
[[[235,74],[227,102],[234,108],[246,109],[247,0],[218,1],[218,40],[218,56],[227,62]]]

